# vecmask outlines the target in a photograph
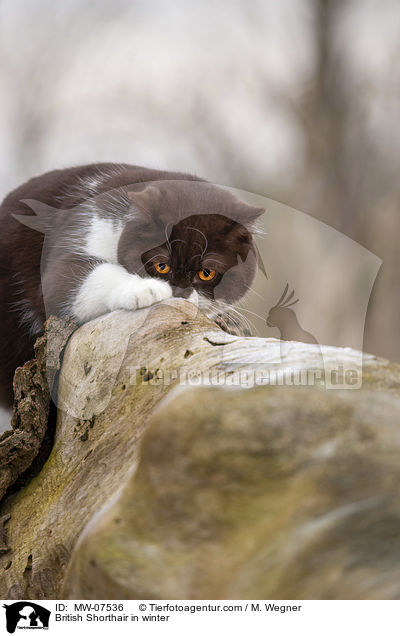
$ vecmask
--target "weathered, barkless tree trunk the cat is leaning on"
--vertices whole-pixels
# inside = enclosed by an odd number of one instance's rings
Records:
[[[321,350],[325,370],[340,361],[359,365],[352,350]],[[0,561],[1,596],[260,598],[279,590],[281,598],[295,591],[310,598],[319,585],[321,597],[340,598],[348,561],[336,570],[334,563],[344,535],[335,544],[333,525],[330,542],[321,544],[327,565],[318,579],[321,553],[314,564],[302,561],[293,548],[300,536],[293,524],[307,521],[304,532],[326,528],[330,518],[347,519],[346,506],[365,501],[360,510],[376,512],[376,501],[383,530],[366,534],[361,518],[353,528],[364,537],[360,555],[378,546],[375,564],[368,565],[378,568],[379,550],[396,547],[390,533],[398,520],[400,368],[366,356],[360,391],[193,387],[161,402],[180,381],[195,383],[202,374],[204,380],[210,370],[230,385],[240,385],[247,370],[251,385],[254,370],[312,368],[320,353],[314,345],[292,343],[282,359],[279,341],[226,334],[185,301],[114,312],[81,327],[64,355],[51,455],[41,473],[2,504],[0,514],[11,518],[9,551]],[[354,462],[363,471],[357,468],[353,479]],[[302,473],[302,466],[313,465]],[[376,488],[371,480],[362,486],[369,474],[381,480]],[[327,493],[324,479],[332,482]],[[335,517],[337,509],[343,512]],[[320,545],[315,533],[309,536],[307,545]],[[273,588],[268,571],[272,576],[276,570],[260,554],[276,550],[287,570]],[[265,569],[256,571],[256,562]],[[309,580],[315,576],[303,594],[287,576],[291,563]],[[382,567],[389,567],[386,561]],[[397,597],[392,578],[386,587],[379,584],[384,570],[378,569],[358,593]],[[336,586],[329,586],[332,577]],[[357,589],[352,585],[349,576],[344,598]]]

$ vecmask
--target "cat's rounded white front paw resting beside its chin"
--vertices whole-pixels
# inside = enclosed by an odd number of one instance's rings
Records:
[[[155,278],[136,278],[118,290],[117,305],[120,309],[141,309],[171,298],[171,286]]]

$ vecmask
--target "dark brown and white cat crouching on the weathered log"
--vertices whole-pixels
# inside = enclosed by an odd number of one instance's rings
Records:
[[[181,296],[233,304],[265,210],[198,177],[128,164],[54,170],[0,206],[0,405],[51,315],[80,323]]]

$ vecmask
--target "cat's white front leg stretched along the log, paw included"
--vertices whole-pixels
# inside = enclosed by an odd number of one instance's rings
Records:
[[[97,265],[78,289],[72,305],[74,316],[86,322],[115,309],[141,309],[172,296],[163,280],[130,274],[122,265]]]

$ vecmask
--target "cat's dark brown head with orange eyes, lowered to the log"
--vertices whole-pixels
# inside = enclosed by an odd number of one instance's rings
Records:
[[[130,272],[167,281],[176,296],[233,303],[257,269],[253,227],[264,209],[206,182],[158,182],[129,194],[133,218],[118,260]]]

